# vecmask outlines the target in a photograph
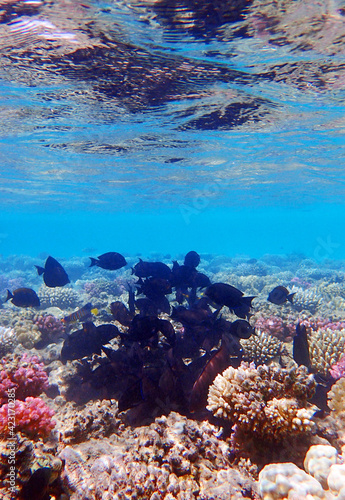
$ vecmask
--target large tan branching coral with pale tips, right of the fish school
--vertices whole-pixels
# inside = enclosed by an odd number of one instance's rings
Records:
[[[236,424],[237,433],[279,441],[313,429],[315,407],[307,403],[315,381],[304,366],[283,369],[277,365],[257,368],[242,362],[217,375],[209,388],[208,406],[216,417]]]

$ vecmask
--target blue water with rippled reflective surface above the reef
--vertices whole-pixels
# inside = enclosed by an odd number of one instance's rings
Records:
[[[342,3],[174,6],[7,6],[0,253],[345,258]]]

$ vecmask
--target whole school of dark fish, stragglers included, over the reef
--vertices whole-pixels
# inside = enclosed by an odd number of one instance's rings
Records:
[[[90,260],[89,267],[109,271],[127,265],[125,257],[117,252]],[[167,397],[188,411],[203,410],[215,376],[229,365],[240,364],[240,339],[256,333],[250,324],[255,297],[244,296],[227,283],[211,283],[207,275],[197,270],[199,263],[200,256],[195,251],[188,252],[182,264],[173,261],[171,267],[139,259],[132,267],[137,281],[128,284],[128,303],[115,301],[110,305],[113,320],[121,328],[113,323],[96,326],[93,316],[98,311],[91,303],[85,304],[61,319],[69,332],[63,342],[61,361],[84,359],[82,380],[95,386],[102,384],[109,398],[118,398],[120,410],[150,406],[157,398]],[[48,287],[70,283],[65,269],[51,256],[44,267],[35,267]],[[277,286],[267,300],[276,305],[287,301],[293,304],[293,295],[287,288]],[[7,300],[17,307],[40,306],[39,297],[30,288],[8,290]],[[224,308],[238,319],[229,321],[222,316]],[[81,328],[70,331],[76,322],[81,323]],[[116,349],[111,343],[115,338]],[[94,356],[102,353],[102,361],[93,369]],[[299,326],[294,358],[308,366],[308,343]]]

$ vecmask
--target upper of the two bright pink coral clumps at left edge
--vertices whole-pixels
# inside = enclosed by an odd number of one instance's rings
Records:
[[[7,401],[8,389],[15,389],[16,399],[39,396],[48,387],[48,375],[37,356],[4,357],[0,361],[0,403]]]

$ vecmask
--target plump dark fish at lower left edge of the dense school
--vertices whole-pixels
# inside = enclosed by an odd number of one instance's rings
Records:
[[[115,325],[104,324],[95,326],[93,323],[83,323],[81,330],[72,332],[64,341],[61,349],[61,361],[81,359],[92,354],[101,354],[102,346],[120,335]]]

